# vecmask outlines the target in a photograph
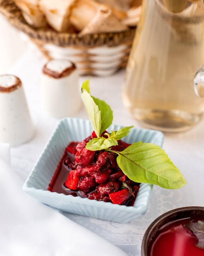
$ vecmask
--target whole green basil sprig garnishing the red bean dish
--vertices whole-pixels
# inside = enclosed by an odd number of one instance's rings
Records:
[[[135,182],[150,183],[165,189],[179,189],[186,184],[179,169],[159,146],[139,141],[121,152],[112,150],[111,147],[118,145],[118,140],[127,136],[133,126],[111,133],[106,132],[107,138],[100,137],[112,124],[112,110],[105,101],[91,96],[89,80],[82,85],[81,97],[97,135],[97,138],[91,139],[86,144],[88,150],[106,150],[118,154],[116,159],[118,166],[130,180]]]

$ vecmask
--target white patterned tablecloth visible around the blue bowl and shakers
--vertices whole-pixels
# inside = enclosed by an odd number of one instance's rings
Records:
[[[23,82],[31,115],[36,127],[35,137],[26,144],[11,148],[11,166],[25,181],[41,154],[59,119],[48,116],[40,101],[40,75],[44,62],[32,52],[27,52],[10,70]],[[89,78],[94,97],[105,100],[114,112],[114,123],[140,127],[124,108],[121,86],[125,70],[110,77],[81,77],[80,84]],[[87,119],[83,108],[76,117]],[[172,162],[180,168],[187,184],[179,190],[165,190],[154,186],[149,209],[144,216],[120,224],[70,213],[67,218],[99,234],[120,247],[129,256],[140,256],[143,234],[148,225],[165,211],[183,206],[204,206],[204,121],[188,132],[165,134],[163,148]]]

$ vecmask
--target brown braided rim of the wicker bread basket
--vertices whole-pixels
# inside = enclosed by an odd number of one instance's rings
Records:
[[[75,33],[59,33],[51,29],[35,29],[26,22],[20,9],[12,0],[0,0],[0,13],[2,13],[14,27],[27,34],[30,38],[60,46],[116,46],[127,44],[132,43],[136,31],[136,28],[129,28],[121,32],[80,35]]]

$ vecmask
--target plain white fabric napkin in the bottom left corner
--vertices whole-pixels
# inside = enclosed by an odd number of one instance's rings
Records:
[[[0,145],[0,156],[7,162],[8,151],[8,145]],[[18,175],[0,158],[1,256],[127,256],[107,240],[24,193],[22,185]]]

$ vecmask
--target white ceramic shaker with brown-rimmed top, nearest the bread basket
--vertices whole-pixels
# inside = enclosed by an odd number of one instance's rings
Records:
[[[75,64],[64,60],[48,61],[42,70],[41,93],[42,106],[49,115],[74,116],[82,106]]]

